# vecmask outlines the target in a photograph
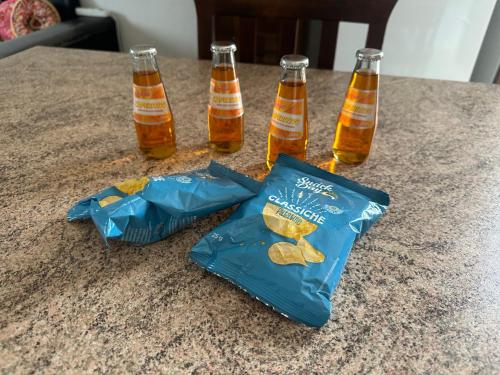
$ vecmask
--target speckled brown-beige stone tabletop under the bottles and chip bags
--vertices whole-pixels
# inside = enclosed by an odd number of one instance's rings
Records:
[[[145,160],[128,56],[37,47],[0,60],[3,373],[500,373],[500,86],[382,77],[375,150],[339,173],[392,205],[355,246],[322,329],[202,271],[189,249],[227,212],[106,251],[76,200],[205,166],[262,175],[279,68],[240,65],[241,152],[206,148],[209,63],[160,58],[177,154]],[[330,160],[349,75],[308,72],[310,160]]]

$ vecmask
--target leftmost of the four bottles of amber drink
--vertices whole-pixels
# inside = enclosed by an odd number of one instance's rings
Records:
[[[147,157],[164,159],[175,152],[175,129],[156,54],[156,49],[147,45],[130,49],[134,74],[133,116],[141,151]]]

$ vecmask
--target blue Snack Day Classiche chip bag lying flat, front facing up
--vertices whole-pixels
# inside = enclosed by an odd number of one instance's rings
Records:
[[[354,242],[388,205],[382,191],[280,155],[258,195],[190,257],[285,316],[320,327]]]

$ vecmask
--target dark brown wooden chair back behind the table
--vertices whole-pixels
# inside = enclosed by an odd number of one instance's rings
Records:
[[[232,40],[239,60],[277,64],[304,53],[311,20],[321,21],[318,68],[332,69],[340,21],[366,23],[366,47],[382,48],[397,0],[195,0],[198,55],[210,59],[210,43]]]

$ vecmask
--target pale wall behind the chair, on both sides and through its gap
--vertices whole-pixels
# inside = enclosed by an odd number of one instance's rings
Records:
[[[384,41],[382,73],[468,81],[496,0],[399,0]],[[81,0],[109,10],[122,49],[153,43],[164,56],[198,56],[196,10],[190,0]],[[350,71],[366,25],[341,23],[335,69]]]

